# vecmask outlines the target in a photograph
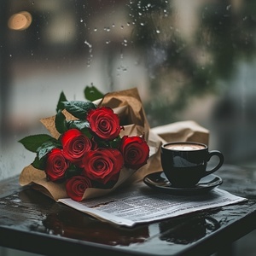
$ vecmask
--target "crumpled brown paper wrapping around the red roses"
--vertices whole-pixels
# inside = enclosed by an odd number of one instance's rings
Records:
[[[136,88],[108,93],[99,102],[99,106],[108,106],[113,108],[115,113],[119,114],[120,123],[125,127],[125,131],[121,131],[120,133],[121,137],[124,135],[144,135],[150,148],[150,156],[148,163],[137,171],[123,168],[119,174],[119,180],[112,189],[86,189],[83,200],[107,195],[124,183],[138,182],[148,173],[160,171],[160,146],[162,143],[169,141],[208,143],[209,131],[194,121],[177,122],[150,129],[141,98]],[[65,110],[63,113],[67,119],[75,119]],[[40,121],[53,137],[57,138],[60,136],[59,132],[55,129],[55,116],[41,119]],[[33,189],[38,189],[44,195],[48,195],[55,201],[67,197],[64,183],[47,181],[44,171],[38,170],[32,165],[26,166],[20,173],[20,185],[31,185]]]

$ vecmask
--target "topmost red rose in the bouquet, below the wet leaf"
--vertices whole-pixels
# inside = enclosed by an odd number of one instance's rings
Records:
[[[113,140],[119,136],[119,116],[113,113],[112,108],[102,107],[90,109],[87,113],[90,130],[104,140]]]

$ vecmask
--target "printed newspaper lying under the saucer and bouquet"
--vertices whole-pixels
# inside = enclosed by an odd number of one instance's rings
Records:
[[[218,188],[203,195],[167,195],[144,183],[136,183],[96,199],[78,202],[65,198],[58,201],[102,221],[132,227],[247,199]]]

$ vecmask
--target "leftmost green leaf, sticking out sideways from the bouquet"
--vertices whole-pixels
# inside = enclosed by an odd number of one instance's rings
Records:
[[[37,152],[37,149],[45,142],[54,139],[54,137],[49,136],[48,134],[38,134],[31,135],[20,139],[21,143],[27,150],[34,153]]]

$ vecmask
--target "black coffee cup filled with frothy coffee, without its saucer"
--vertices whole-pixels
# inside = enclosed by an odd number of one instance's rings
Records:
[[[207,170],[207,163],[213,155],[218,164]],[[191,188],[224,163],[224,155],[218,150],[208,150],[203,143],[176,142],[161,146],[160,159],[166,177],[174,187]]]

